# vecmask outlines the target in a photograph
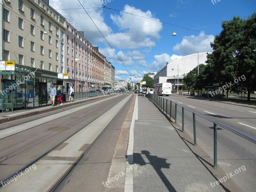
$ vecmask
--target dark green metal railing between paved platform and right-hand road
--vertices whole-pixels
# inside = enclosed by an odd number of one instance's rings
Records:
[[[195,111],[192,111],[191,109],[188,109],[184,106],[182,106],[181,104],[175,102],[175,101],[172,101],[170,99],[167,99],[167,98],[164,98],[164,97],[161,97],[161,96],[158,96],[158,95],[154,95],[154,94],[150,94],[149,93],[149,100],[151,100],[155,105],[156,107],[158,107],[163,113],[165,113],[165,115],[169,115],[170,116],[170,120],[171,118],[174,119],[174,123],[177,124],[177,106],[180,106],[182,107],[182,132],[184,132],[184,110],[188,110],[189,112],[191,112],[193,114],[193,135],[194,135],[194,146],[197,146],[197,142],[196,142],[196,116],[200,116],[202,118],[204,118],[205,120],[207,121],[210,121],[212,124],[213,124],[213,159],[214,159],[214,166],[213,168],[214,169],[217,169],[218,166],[217,166],[217,127],[222,127],[230,132],[233,132],[235,133],[236,135],[246,139],[246,140],[249,140],[251,141],[252,143],[256,144],[256,140],[242,134],[242,133],[239,133],[223,124],[220,124],[216,121],[213,121],[212,119],[209,119],[199,113],[196,113]],[[170,102],[168,102],[170,101]],[[170,104],[170,106],[169,106]],[[172,104],[174,105],[175,104],[175,112],[174,114],[172,113]]]

